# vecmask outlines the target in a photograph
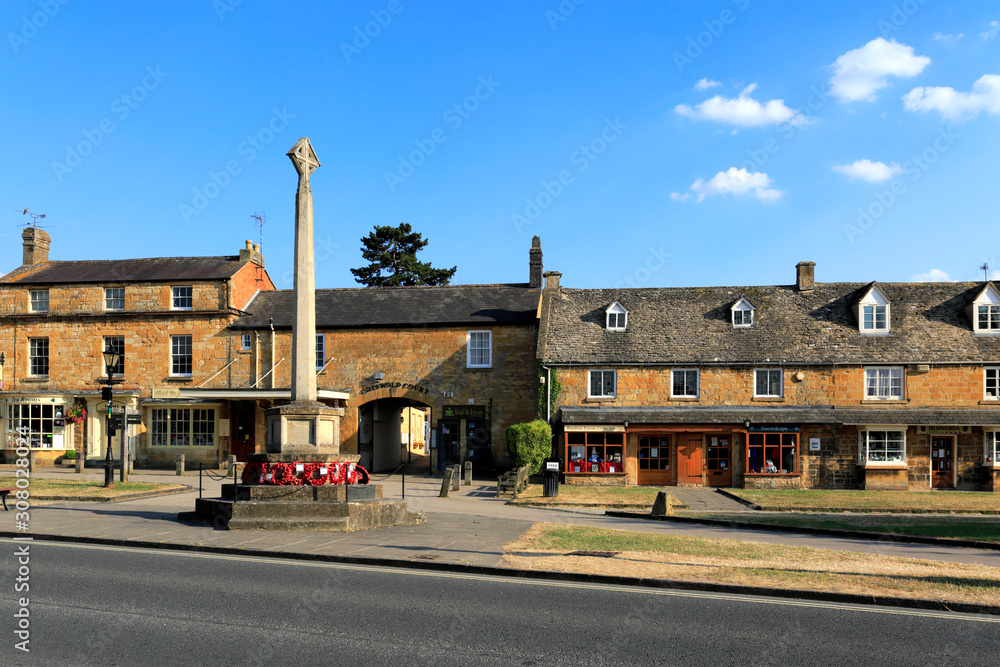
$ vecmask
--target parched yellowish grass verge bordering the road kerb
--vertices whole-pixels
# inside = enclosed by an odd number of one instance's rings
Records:
[[[535,524],[510,567],[997,606],[1000,569],[760,542]],[[617,552],[611,558],[569,556]]]

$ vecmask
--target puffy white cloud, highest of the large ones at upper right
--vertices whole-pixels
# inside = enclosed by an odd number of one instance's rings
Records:
[[[875,91],[889,85],[890,76],[911,77],[931,63],[912,46],[877,37],[860,49],[848,51],[833,63],[830,92],[841,102],[875,99]]]

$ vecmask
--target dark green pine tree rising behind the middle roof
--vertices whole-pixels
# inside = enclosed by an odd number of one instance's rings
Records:
[[[361,243],[361,256],[369,264],[351,273],[365,287],[447,285],[458,270],[457,266],[435,269],[430,262],[417,261],[417,253],[428,241],[405,222],[399,227],[375,225],[375,231]]]

